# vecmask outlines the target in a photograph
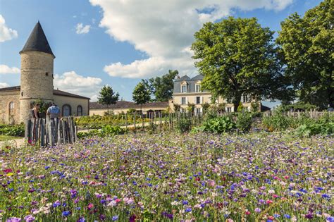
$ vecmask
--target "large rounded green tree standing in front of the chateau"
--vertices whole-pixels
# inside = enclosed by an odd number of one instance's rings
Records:
[[[229,17],[205,23],[192,43],[195,66],[204,75],[203,89],[214,97],[230,99],[235,110],[242,94],[254,99],[287,97],[273,33],[256,18]]]

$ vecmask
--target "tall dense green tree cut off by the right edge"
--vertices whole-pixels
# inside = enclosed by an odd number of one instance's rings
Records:
[[[281,23],[276,39],[299,100],[321,109],[334,107],[334,1],[325,0],[304,15]]]

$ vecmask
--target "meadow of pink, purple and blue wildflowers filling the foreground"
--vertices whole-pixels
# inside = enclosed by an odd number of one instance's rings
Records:
[[[93,137],[1,151],[2,221],[333,221],[333,137]]]

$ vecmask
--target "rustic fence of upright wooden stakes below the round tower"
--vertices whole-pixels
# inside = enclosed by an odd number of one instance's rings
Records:
[[[74,143],[78,140],[77,134],[78,128],[73,117],[30,119],[25,124],[25,139],[40,147]]]

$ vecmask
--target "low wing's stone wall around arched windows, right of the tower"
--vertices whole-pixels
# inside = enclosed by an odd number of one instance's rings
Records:
[[[68,104],[70,106],[70,115],[78,116],[78,106],[82,106],[82,116],[89,116],[89,99],[66,97],[61,95],[54,95],[54,103],[59,106],[63,112],[63,106]],[[63,115],[63,113],[61,113]]]

